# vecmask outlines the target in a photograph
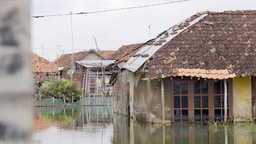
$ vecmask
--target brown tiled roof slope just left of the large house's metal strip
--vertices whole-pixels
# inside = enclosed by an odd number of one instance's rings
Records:
[[[114,53],[113,57],[117,59],[115,63],[126,62],[130,57],[133,57],[144,43],[137,43],[132,45],[123,45]]]

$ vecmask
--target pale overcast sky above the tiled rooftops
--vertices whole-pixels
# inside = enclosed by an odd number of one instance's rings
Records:
[[[31,15],[51,15],[117,9],[176,0],[31,0]],[[155,7],[73,15],[74,51],[116,50],[122,45],[143,43],[198,11],[256,9],[256,0],[191,0]],[[52,61],[57,54],[71,53],[70,16],[31,18],[31,49]],[[43,46],[43,51],[42,47]]]

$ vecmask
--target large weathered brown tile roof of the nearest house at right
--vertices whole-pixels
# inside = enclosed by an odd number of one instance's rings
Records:
[[[161,46],[151,57],[150,79],[256,76],[256,11],[204,13],[208,15]],[[193,21],[201,14],[186,21]],[[175,25],[173,32],[184,27],[185,24]]]

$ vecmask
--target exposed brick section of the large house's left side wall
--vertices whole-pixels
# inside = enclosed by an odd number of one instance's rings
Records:
[[[148,99],[148,82],[143,80],[145,78],[145,73],[138,73],[137,80],[138,83],[135,84],[134,88],[134,106],[133,111],[137,119],[146,120],[147,119],[147,99]]]

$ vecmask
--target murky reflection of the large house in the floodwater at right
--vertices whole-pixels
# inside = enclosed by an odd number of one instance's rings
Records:
[[[145,124],[114,117],[114,143],[256,143],[255,123]]]

